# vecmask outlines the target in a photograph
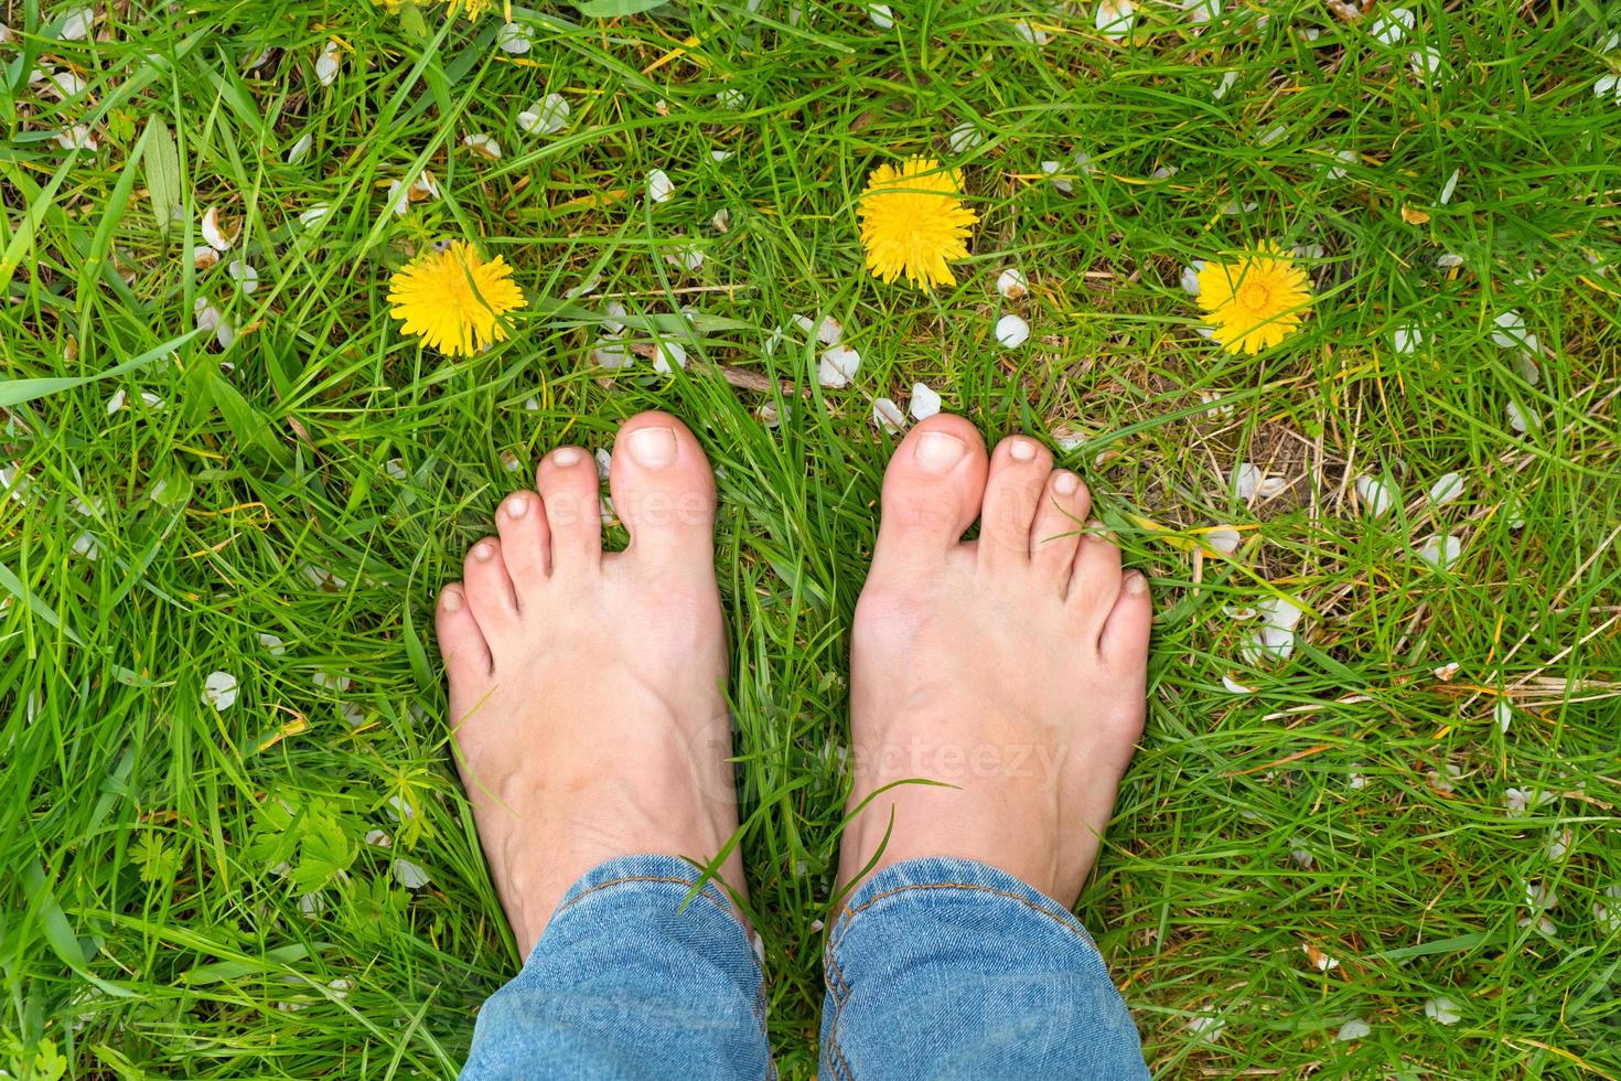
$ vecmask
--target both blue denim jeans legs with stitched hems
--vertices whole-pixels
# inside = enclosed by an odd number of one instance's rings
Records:
[[[574,883],[528,963],[478,1013],[462,1078],[773,1076],[765,993],[725,893],[671,856]],[[995,867],[872,875],[828,934],[820,1075],[1148,1078],[1086,929]]]

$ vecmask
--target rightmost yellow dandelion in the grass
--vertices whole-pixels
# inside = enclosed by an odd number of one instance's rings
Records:
[[[1311,284],[1274,243],[1200,271],[1200,308],[1229,353],[1260,353],[1295,332],[1311,310]]]

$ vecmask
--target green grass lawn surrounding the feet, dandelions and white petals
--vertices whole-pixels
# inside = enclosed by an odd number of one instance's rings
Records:
[[[807,1076],[848,626],[895,442],[872,399],[924,381],[989,436],[1068,429],[1065,464],[1151,574],[1148,733],[1080,912],[1156,1075],[1621,1075],[1621,937],[1593,909],[1621,912],[1605,896],[1621,885],[1621,109],[1593,94],[1621,52],[1600,53],[1605,5],[1410,3],[1405,45],[1439,50],[1436,89],[1318,3],[1229,0],[1201,29],[1144,5],[1122,44],[1091,5],[895,6],[888,31],[809,2],[798,24],[775,0],[622,21],[519,8],[522,60],[493,47],[499,16],[428,13],[418,32],[358,2],[136,0],[92,42],[52,37],[62,6],[10,8],[0,465],[28,488],[0,498],[0,1066],[456,1070],[519,956],[446,747],[431,601],[532,459],[605,446],[657,407],[720,473],[742,846],[772,1042]],[[1016,18],[1050,41],[1023,41]],[[344,63],[321,88],[329,37]],[[31,88],[42,58],[86,94]],[[520,131],[551,91],[564,131]],[[152,120],[177,175],[156,130],[135,159]],[[964,120],[986,143],[950,154]],[[73,122],[99,151],[58,149]],[[504,156],[470,154],[472,131]],[[1339,149],[1355,160],[1329,178]],[[856,243],[866,173],[913,152],[960,164],[982,216],[961,284],[934,297],[867,279]],[[1065,162],[1073,194],[1042,160]],[[394,217],[387,183],[421,167],[443,196]],[[650,209],[653,167],[678,193]],[[154,185],[185,207],[167,235]],[[1232,201],[1255,207],[1222,214]],[[332,212],[306,229],[314,203]],[[251,295],[224,263],[191,266],[209,206],[245,222],[225,261],[258,269]],[[721,207],[728,233],[710,225]],[[511,342],[449,363],[402,340],[384,295],[415,248],[457,235],[537,300]],[[1315,316],[1261,357],[1221,353],[1180,269],[1264,238],[1321,245]],[[702,246],[699,272],[663,261],[681,243]],[[1438,269],[1443,253],[1462,267]],[[992,337],[1008,264],[1033,285],[1018,352]],[[692,365],[592,368],[608,297],[647,318],[695,305]],[[240,329],[229,350],[186,337],[199,298]],[[1508,310],[1542,342],[1537,386],[1491,342]],[[851,387],[819,389],[793,340],[763,352],[793,313],[843,319],[864,358]],[[1425,342],[1397,353],[1405,324]],[[109,379],[26,382],[149,350]],[[786,389],[733,387],[716,363]],[[117,387],[131,404],[109,415]],[[1206,415],[1201,392],[1232,412]],[[1540,428],[1512,431],[1511,399]],[[776,429],[754,417],[767,400],[791,402]],[[1287,489],[1235,499],[1240,460]],[[1454,470],[1464,498],[1430,507]],[[1404,506],[1370,519],[1352,494],[1365,472],[1397,478]],[[1242,530],[1234,561],[1185,543],[1214,525]],[[1409,554],[1438,530],[1462,541],[1449,572]],[[1224,609],[1274,593],[1308,614],[1292,658],[1253,668]],[[242,686],[225,711],[203,705],[212,671]],[[1229,673],[1253,692],[1229,692]],[[1430,775],[1449,765],[1441,791]],[[1509,817],[1509,788],[1546,801]],[[1563,830],[1569,852],[1550,857]],[[431,883],[400,887],[391,854]],[[1556,896],[1551,937],[1520,927],[1527,883]],[[306,916],[310,890],[324,908]],[[1425,1016],[1436,995],[1456,1026]],[[1190,1028],[1208,1016],[1214,1040]],[[1371,1032],[1336,1040],[1354,1016]]]

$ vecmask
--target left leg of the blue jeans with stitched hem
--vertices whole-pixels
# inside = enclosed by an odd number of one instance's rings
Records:
[[[462,1078],[772,1075],[749,934],[674,856],[611,859],[575,882],[524,969],[485,1002]]]

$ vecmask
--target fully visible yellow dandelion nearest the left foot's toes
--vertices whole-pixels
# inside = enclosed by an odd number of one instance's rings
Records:
[[[405,321],[400,331],[452,357],[506,340],[501,316],[525,303],[501,256],[485,263],[460,240],[417,256],[389,282],[389,314]]]

